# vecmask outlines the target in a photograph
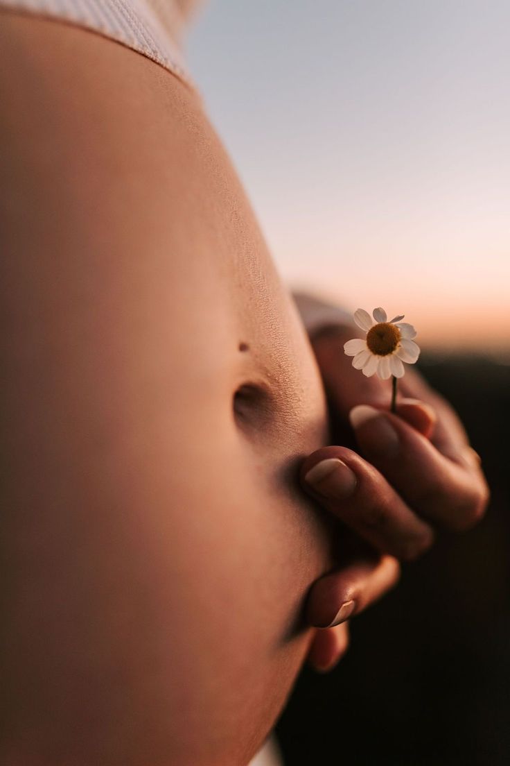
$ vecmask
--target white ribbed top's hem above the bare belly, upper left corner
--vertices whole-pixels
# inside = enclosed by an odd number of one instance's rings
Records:
[[[99,32],[192,84],[179,47],[190,0],[0,0],[0,8]]]

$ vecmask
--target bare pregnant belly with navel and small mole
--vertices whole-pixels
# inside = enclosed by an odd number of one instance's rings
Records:
[[[5,766],[241,766],[312,638],[320,376],[196,95],[2,14]]]

